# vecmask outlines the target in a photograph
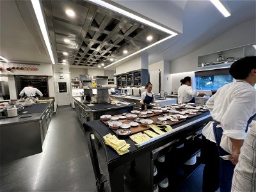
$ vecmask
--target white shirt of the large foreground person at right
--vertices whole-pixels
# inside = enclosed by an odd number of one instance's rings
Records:
[[[244,140],[248,120],[256,113],[256,90],[246,81],[237,80],[220,88],[206,106],[212,118],[220,122],[224,136]],[[202,134],[207,140],[216,142],[212,126],[209,122]]]

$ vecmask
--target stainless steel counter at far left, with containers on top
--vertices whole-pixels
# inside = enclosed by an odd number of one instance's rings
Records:
[[[0,120],[1,164],[42,152],[53,104],[35,103],[18,114]]]

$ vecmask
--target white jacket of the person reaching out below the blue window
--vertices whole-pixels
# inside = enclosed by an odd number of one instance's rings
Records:
[[[182,84],[178,89],[178,102],[189,102],[193,97],[198,96],[198,94],[191,86]]]

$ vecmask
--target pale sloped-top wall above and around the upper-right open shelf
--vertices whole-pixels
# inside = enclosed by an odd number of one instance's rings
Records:
[[[183,56],[171,62],[171,74],[179,72],[189,72],[203,70],[198,67],[198,56],[210,54],[212,52],[224,51],[243,45],[253,44],[256,42],[256,20],[249,20],[221,34],[208,44],[200,47],[194,52]],[[212,67],[216,68],[216,67]]]

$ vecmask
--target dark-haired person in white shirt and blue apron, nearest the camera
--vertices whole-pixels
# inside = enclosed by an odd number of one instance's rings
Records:
[[[209,122],[202,132],[204,143],[202,157],[205,163],[203,191],[216,189],[211,185],[217,180],[212,175],[218,177],[216,173],[218,166],[220,166],[220,191],[231,190],[234,167],[248,125],[256,115],[256,91],[253,88],[256,83],[256,56],[234,62],[229,72],[236,82],[220,88],[206,103],[214,122]],[[207,146],[208,148],[205,148]],[[217,154],[221,158],[216,157],[216,147]]]

